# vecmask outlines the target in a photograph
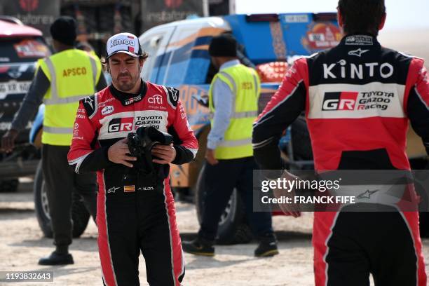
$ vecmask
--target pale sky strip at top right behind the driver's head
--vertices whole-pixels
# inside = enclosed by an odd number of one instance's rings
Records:
[[[384,29],[428,29],[429,36],[429,0],[385,1]],[[338,0],[236,0],[236,13],[334,12],[337,4]]]

